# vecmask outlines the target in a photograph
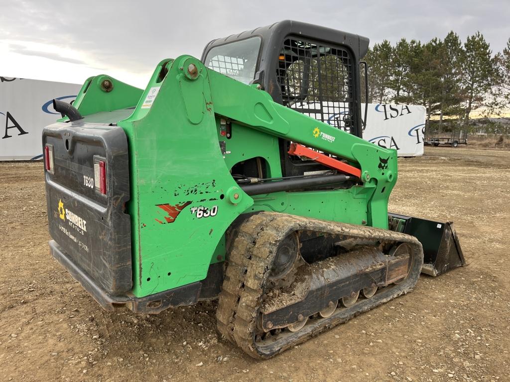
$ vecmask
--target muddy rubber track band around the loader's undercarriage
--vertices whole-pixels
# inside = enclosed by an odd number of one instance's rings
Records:
[[[402,283],[381,288],[373,297],[359,300],[351,308],[337,310],[332,316],[313,320],[312,323],[309,321],[298,332],[286,331],[285,334],[282,332],[276,337],[276,341],[255,343],[257,318],[276,248],[290,232],[298,230],[342,234],[389,243],[408,243],[414,251],[410,274]],[[418,282],[422,264],[422,245],[414,236],[284,213],[260,212],[240,225],[237,229],[237,237],[230,248],[230,257],[216,312],[218,330],[228,341],[240,346],[251,357],[270,358],[326,329],[411,291]]]

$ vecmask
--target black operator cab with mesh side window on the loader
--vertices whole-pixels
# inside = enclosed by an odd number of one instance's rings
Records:
[[[365,37],[284,20],[213,40],[201,61],[244,84],[259,84],[279,104],[362,137],[359,62],[368,44]],[[280,140],[284,176],[323,170],[287,155],[289,146]]]

